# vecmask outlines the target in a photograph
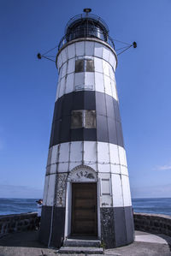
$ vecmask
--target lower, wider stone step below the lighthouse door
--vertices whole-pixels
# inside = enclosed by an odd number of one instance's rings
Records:
[[[103,248],[97,247],[61,247],[58,253],[103,254]]]

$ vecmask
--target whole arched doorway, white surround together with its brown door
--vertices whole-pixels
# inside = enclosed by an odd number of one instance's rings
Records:
[[[68,175],[65,237],[100,236],[97,172],[80,165]]]

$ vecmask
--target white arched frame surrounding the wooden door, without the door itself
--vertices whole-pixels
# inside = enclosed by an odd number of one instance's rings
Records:
[[[78,171],[81,172],[84,170],[86,173],[93,174],[94,179],[84,179],[81,180],[78,177],[75,179],[75,173],[78,174]],[[72,176],[74,176],[74,179],[72,179]],[[77,175],[76,175],[77,177]],[[68,238],[69,235],[71,235],[71,224],[72,224],[72,183],[97,183],[97,238],[101,240],[101,223],[100,223],[100,182],[99,179],[97,179],[97,173],[95,170],[91,169],[88,166],[78,166],[76,169],[72,170],[68,176],[68,182],[67,182],[67,191],[66,191],[66,211],[65,211],[65,229],[64,229],[64,240]]]

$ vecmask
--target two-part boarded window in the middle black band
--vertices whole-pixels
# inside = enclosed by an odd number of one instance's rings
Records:
[[[95,110],[73,110],[71,128],[96,128]]]

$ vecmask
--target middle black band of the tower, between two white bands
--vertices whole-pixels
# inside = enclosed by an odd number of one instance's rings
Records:
[[[72,110],[96,110],[96,128],[71,128]],[[71,92],[55,104],[50,146],[70,141],[102,141],[123,146],[118,102],[103,92]]]

